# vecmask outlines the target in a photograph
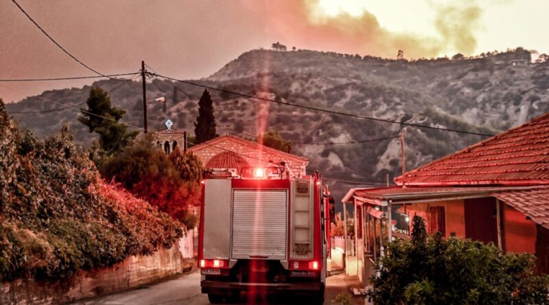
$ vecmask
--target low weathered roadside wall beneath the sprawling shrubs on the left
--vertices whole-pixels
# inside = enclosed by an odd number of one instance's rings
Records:
[[[62,304],[148,284],[181,271],[178,245],[151,256],[130,256],[116,265],[80,270],[58,282],[19,279],[0,283],[0,304]]]

